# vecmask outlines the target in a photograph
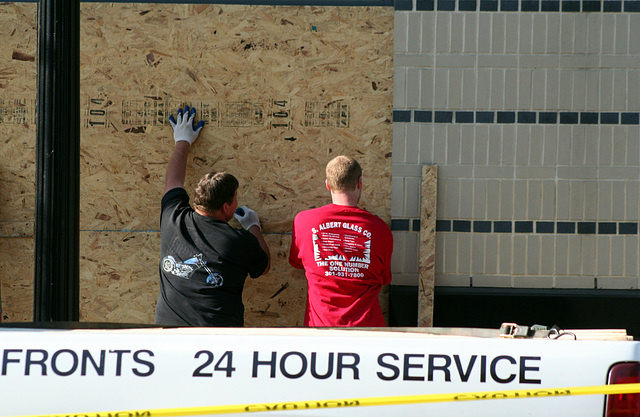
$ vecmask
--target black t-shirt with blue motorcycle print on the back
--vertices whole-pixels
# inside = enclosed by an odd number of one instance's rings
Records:
[[[258,239],[196,213],[183,188],[162,198],[160,234],[156,324],[242,326],[244,281],[247,274],[262,275],[268,264]]]

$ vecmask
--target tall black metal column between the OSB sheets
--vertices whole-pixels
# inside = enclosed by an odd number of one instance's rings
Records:
[[[79,320],[80,0],[38,4],[34,321]]]

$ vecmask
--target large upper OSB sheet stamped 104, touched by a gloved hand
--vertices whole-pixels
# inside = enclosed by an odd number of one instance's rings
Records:
[[[265,232],[286,233],[346,153],[389,220],[392,9],[83,4],[81,30],[84,228],[157,229],[182,103],[206,122],[187,189],[229,171]]]

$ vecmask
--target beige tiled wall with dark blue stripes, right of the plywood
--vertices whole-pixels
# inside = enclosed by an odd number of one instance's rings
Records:
[[[395,285],[637,289],[640,1],[396,1]]]

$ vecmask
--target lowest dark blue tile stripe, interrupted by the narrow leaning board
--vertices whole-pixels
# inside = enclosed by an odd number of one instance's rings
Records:
[[[436,232],[637,235],[637,222],[436,220]],[[391,230],[420,231],[420,219],[391,219]]]

